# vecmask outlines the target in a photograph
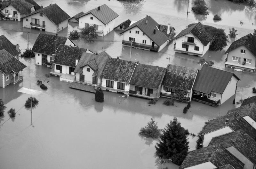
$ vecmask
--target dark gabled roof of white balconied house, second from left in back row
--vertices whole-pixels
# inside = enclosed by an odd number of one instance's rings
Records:
[[[59,25],[61,22],[70,18],[70,16],[65,11],[63,11],[57,4],[52,4],[52,5],[46,6],[42,9],[36,10],[22,18],[26,18],[30,15],[34,15],[35,13],[38,13],[38,12],[42,12],[55,25]],[[22,19],[22,18],[20,18],[20,19]]]

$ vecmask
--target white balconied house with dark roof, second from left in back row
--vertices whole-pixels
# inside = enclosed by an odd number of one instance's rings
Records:
[[[57,4],[52,4],[29,13],[20,19],[23,20],[23,27],[57,33],[68,27],[69,18],[70,16]]]

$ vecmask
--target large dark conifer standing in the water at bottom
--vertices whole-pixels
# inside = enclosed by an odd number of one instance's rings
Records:
[[[181,165],[188,154],[188,130],[181,127],[177,118],[167,123],[160,136],[159,143],[156,143],[156,155],[159,158],[171,159],[176,165]]]

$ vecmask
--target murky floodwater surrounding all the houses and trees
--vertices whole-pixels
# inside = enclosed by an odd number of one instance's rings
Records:
[[[51,0],[36,1],[39,5],[48,6]],[[238,31],[236,39],[252,33],[256,29],[255,14],[245,9],[244,5],[232,4],[229,1],[207,0],[210,14],[206,18],[189,11],[187,19],[186,0],[154,0],[128,3],[107,0],[53,0],[70,16],[80,11],[88,11],[101,4],[107,4],[120,16],[116,25],[126,19],[139,20],[150,15],[160,24],[171,23],[176,33],[186,25],[202,21],[203,24],[228,29],[235,27]],[[222,21],[213,22],[214,14],[220,14]],[[238,17],[239,16],[239,17]],[[244,24],[240,25],[239,21]],[[252,25],[252,23],[254,23]],[[228,25],[228,26],[227,26]],[[59,32],[68,36],[68,32],[77,29],[77,24],[69,23],[68,28]],[[27,31],[29,38],[27,38]],[[122,35],[112,31],[94,43],[75,40],[79,47],[94,52],[106,50],[110,56],[130,59],[130,49],[122,46]],[[31,48],[39,34],[37,30],[22,28],[20,22],[0,21],[0,34],[4,34],[13,44],[20,44],[21,52]],[[235,39],[230,39],[228,46]],[[227,48],[226,48],[227,49]],[[214,62],[213,67],[224,69],[225,50],[209,51],[204,55],[206,60]],[[210,56],[210,57],[209,57]],[[168,59],[167,59],[168,58]],[[199,57],[175,53],[173,43],[161,52],[149,52],[132,48],[132,60],[151,65],[166,67],[170,58],[171,64],[200,69]],[[50,69],[35,65],[35,59],[20,59],[27,68],[23,71],[24,80],[17,86],[9,85],[0,89],[0,98],[6,105],[5,116],[0,118],[0,168],[178,168],[173,164],[160,165],[154,156],[156,140],[145,139],[138,135],[151,117],[159,128],[177,117],[181,125],[190,133],[198,133],[204,122],[227,113],[233,105],[233,98],[223,105],[214,108],[198,102],[191,102],[187,114],[183,114],[186,104],[175,103],[165,106],[160,98],[156,105],[148,106],[148,100],[105,92],[103,103],[94,101],[94,94],[69,88],[70,83],[59,81],[58,77],[46,77]],[[236,101],[252,96],[252,87],[256,86],[255,73],[235,72],[241,81],[238,82]],[[31,84],[29,83],[31,79]],[[42,80],[48,90],[36,96],[38,107],[33,109],[32,126],[30,112],[23,104],[30,96],[17,92],[21,87],[40,90],[35,84]],[[49,81],[47,83],[47,81]],[[31,87],[30,87],[31,86]],[[33,95],[32,95],[33,96]],[[17,116],[9,119],[7,111],[14,108]],[[189,138],[189,151],[195,149],[196,137]]]

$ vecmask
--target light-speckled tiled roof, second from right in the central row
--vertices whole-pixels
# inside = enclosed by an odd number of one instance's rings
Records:
[[[169,88],[191,90],[197,69],[168,64],[162,85]]]

